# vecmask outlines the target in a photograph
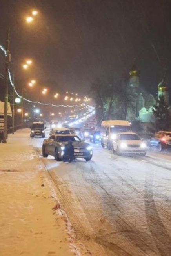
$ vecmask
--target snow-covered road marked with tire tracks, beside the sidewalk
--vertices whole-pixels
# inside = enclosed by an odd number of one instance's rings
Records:
[[[32,143],[40,152],[42,139]],[[171,256],[171,156],[116,156],[99,145],[93,151],[89,162],[42,158],[81,251]]]

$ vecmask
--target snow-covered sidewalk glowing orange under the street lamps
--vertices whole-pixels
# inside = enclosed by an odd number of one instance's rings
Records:
[[[0,143],[0,255],[70,256],[65,218],[36,156],[29,130]],[[56,207],[57,208],[57,207]]]

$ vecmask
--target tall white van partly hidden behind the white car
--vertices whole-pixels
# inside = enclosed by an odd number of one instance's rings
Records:
[[[118,132],[130,132],[130,123],[126,120],[107,120],[102,121],[100,135],[102,147],[106,146],[109,149],[113,147],[113,139]]]

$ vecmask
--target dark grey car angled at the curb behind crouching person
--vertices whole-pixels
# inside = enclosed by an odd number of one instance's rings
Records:
[[[51,135],[49,139],[44,139],[42,145],[42,155],[47,157],[48,155],[54,156],[56,160],[62,160],[62,156],[65,150],[65,144],[71,140],[74,146],[75,158],[84,158],[86,161],[91,160],[93,156],[92,147],[84,142],[76,135]]]

